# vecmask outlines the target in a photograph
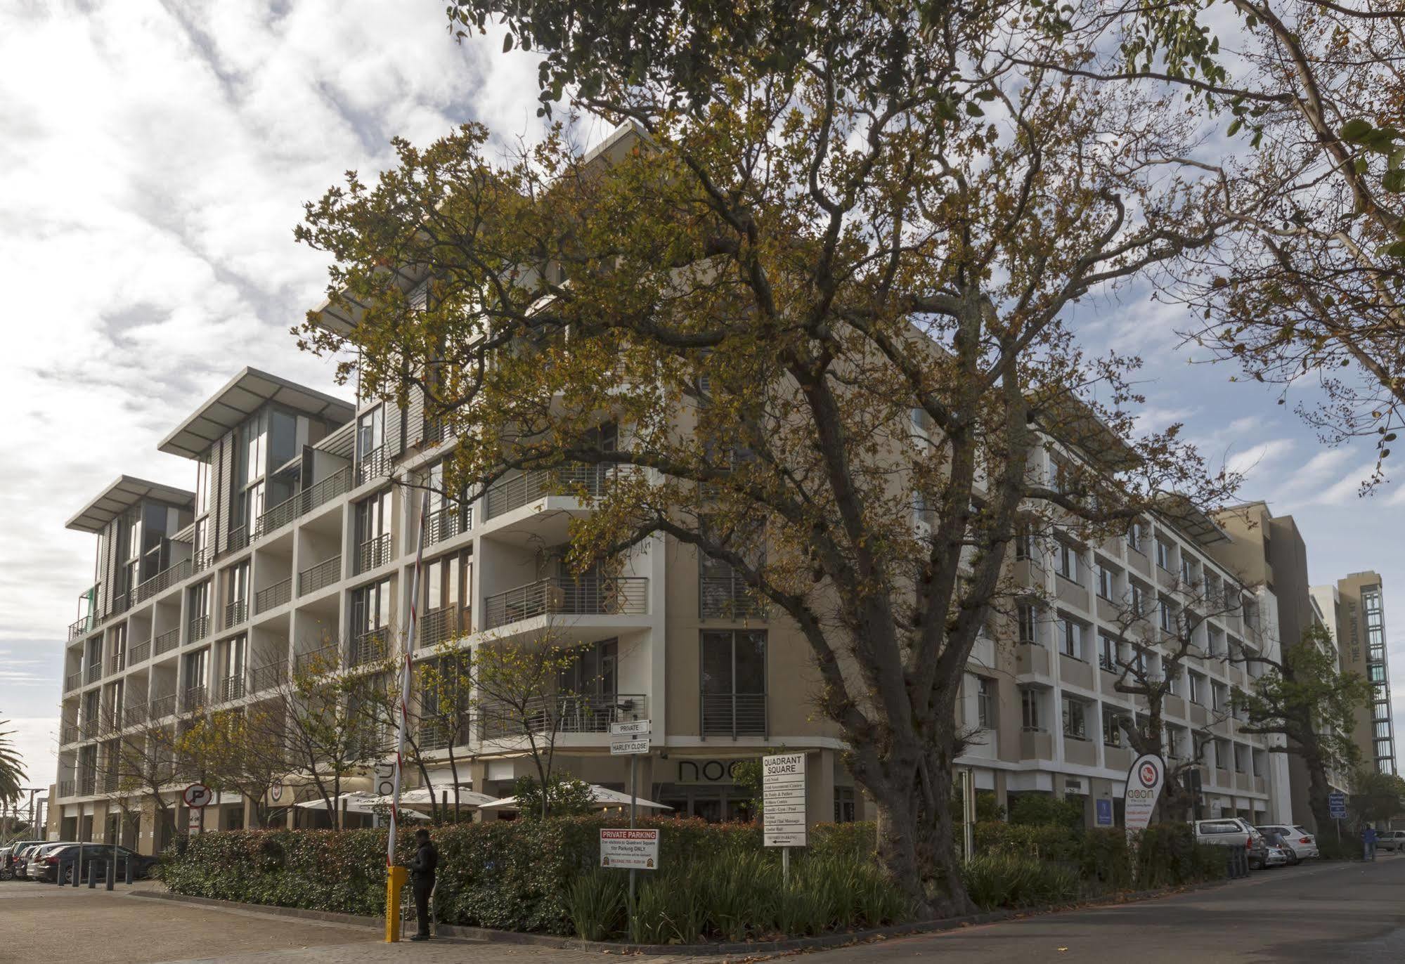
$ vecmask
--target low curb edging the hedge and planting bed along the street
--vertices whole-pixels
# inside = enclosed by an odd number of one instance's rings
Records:
[[[593,950],[608,954],[655,954],[655,956],[722,956],[722,954],[776,954],[785,951],[798,950],[826,950],[830,947],[843,947],[847,944],[861,944],[875,939],[887,937],[905,937],[909,934],[920,933],[939,933],[943,930],[958,930],[961,927],[974,927],[986,923],[999,923],[1002,920],[1014,920],[1017,918],[1030,918],[1044,913],[1057,913],[1059,911],[1075,911],[1082,908],[1097,908],[1097,906],[1120,906],[1123,904],[1135,904],[1139,901],[1149,901],[1159,897],[1170,897],[1172,894],[1187,894],[1191,891],[1211,890],[1215,887],[1224,887],[1234,881],[1217,880],[1205,881],[1201,884],[1184,884],[1180,887],[1165,887],[1155,891],[1130,891],[1125,894],[1117,894],[1111,897],[1100,897],[1092,901],[1083,901],[1080,904],[1048,904],[1041,906],[1007,909],[1007,911],[988,911],[985,913],[968,913],[960,918],[939,918],[933,920],[910,920],[908,923],[892,925],[891,927],[868,927],[864,930],[846,930],[843,933],[821,934],[818,937],[791,937],[788,940],[753,940],[740,943],[722,943],[722,944],[628,944],[618,942],[596,942],[596,940],[579,940],[576,937],[555,937],[551,934],[528,934],[518,933],[516,930],[492,930],[489,927],[466,927],[462,925],[443,923],[436,927],[436,934],[441,937],[457,937],[459,940],[472,940],[479,943],[495,943],[495,944],[527,944],[532,947],[554,947],[558,950]],[[192,897],[188,894],[171,894],[159,891],[133,891],[125,897],[136,897],[157,901],[178,901],[183,904],[200,904],[204,906],[225,908],[233,911],[250,911],[254,913],[274,913],[285,918],[298,918],[302,920],[323,920],[329,923],[344,923],[358,927],[379,929],[384,926],[384,918],[364,916],[360,913],[341,913],[337,911],[311,911],[305,908],[285,908],[275,906],[271,904],[243,904],[240,901],[221,901],[209,897]]]

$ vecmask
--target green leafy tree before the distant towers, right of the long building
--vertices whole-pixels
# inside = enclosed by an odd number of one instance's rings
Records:
[[[1332,637],[1321,625],[1305,630],[1279,659],[1250,653],[1231,659],[1266,667],[1248,690],[1234,690],[1234,705],[1246,717],[1239,731],[1287,738],[1284,746],[1270,749],[1302,760],[1312,819],[1318,828],[1331,826],[1328,770],[1350,771],[1360,757],[1352,731],[1356,711],[1370,703],[1371,687],[1359,675],[1340,670]]]

